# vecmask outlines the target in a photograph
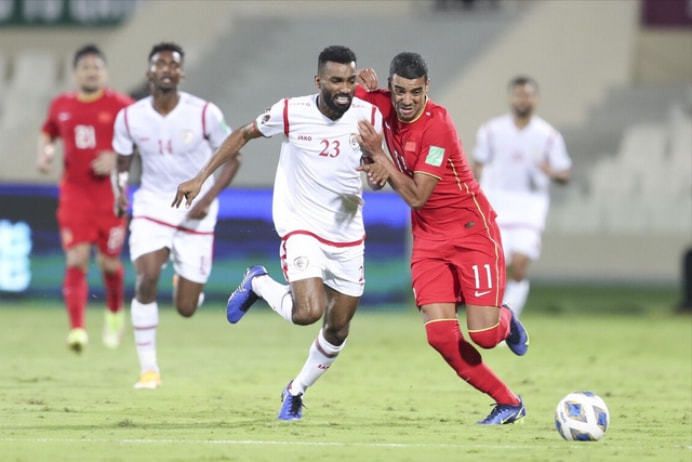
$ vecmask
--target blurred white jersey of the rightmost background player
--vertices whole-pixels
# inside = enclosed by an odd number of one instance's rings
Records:
[[[473,157],[483,164],[480,184],[498,214],[498,224],[543,230],[550,178],[540,166],[545,162],[554,170],[572,166],[562,135],[537,116],[519,129],[506,114],[478,130]]]

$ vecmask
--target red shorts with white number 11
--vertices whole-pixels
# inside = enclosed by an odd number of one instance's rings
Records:
[[[416,305],[500,306],[505,259],[495,220],[449,240],[414,239],[411,277]]]

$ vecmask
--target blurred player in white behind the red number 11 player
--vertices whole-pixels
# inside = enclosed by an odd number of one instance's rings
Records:
[[[541,252],[550,182],[567,183],[572,167],[562,135],[534,115],[537,103],[535,80],[512,79],[511,113],[478,130],[473,152],[476,175],[500,226],[508,276],[504,303],[517,316],[529,294],[529,263]]]

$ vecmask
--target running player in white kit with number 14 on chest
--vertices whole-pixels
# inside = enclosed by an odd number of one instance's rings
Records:
[[[238,158],[209,179],[188,210],[172,209],[178,183],[200,169],[230,134],[214,104],[178,90],[183,78],[182,48],[160,43],[149,53],[147,78],[151,96],[121,110],[115,121],[113,150],[118,153],[118,208],[127,208],[127,172],[135,147],[142,158],[140,188],[135,192],[130,223],[130,257],[137,272],[132,325],[140,363],[135,388],[161,384],[156,358],[157,291],[162,266],[175,270],[174,302],[184,317],[201,303],[209,277],[218,211],[216,197],[238,170]]]

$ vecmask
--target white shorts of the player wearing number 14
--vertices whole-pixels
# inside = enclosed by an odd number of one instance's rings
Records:
[[[149,218],[132,219],[130,259],[133,262],[144,254],[163,248],[170,249],[176,274],[199,284],[207,282],[214,249],[213,232],[181,230]]]

